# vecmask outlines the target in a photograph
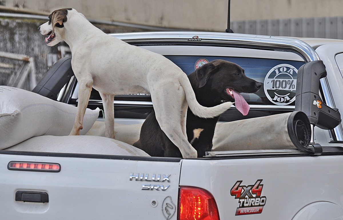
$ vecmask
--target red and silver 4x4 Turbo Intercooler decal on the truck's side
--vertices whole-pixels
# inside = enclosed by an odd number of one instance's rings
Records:
[[[230,194],[238,199],[236,216],[261,213],[267,200],[265,196],[261,196],[262,180],[257,180],[254,185],[249,186],[240,185],[242,182],[237,181],[230,191]]]

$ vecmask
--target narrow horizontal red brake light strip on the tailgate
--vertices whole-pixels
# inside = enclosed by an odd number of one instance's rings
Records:
[[[43,172],[59,172],[61,166],[58,163],[39,163],[39,162],[23,162],[11,161],[8,163],[9,170],[27,170],[27,171],[43,171]]]

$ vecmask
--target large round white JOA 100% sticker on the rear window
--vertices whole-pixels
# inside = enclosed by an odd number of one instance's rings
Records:
[[[274,66],[264,78],[264,93],[275,105],[289,105],[295,100],[298,70],[289,64]]]

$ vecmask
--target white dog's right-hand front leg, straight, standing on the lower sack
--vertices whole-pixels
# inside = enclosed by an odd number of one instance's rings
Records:
[[[114,95],[99,93],[103,100],[104,116],[105,116],[105,136],[115,138],[114,132]]]

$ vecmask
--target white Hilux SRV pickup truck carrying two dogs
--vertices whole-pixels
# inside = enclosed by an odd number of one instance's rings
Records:
[[[212,151],[197,159],[3,149],[0,219],[343,219],[343,40],[211,32],[111,35],[166,56],[186,74],[214,59],[239,64],[262,88],[243,94],[247,116],[232,107],[218,124],[260,120],[251,129],[253,144],[245,142],[251,139],[247,132],[243,144],[216,148],[221,137],[215,134]],[[70,58],[55,65],[38,93],[77,105]],[[115,123],[126,125],[141,124],[152,109],[146,95],[118,96],[114,105]],[[96,107],[102,102],[93,89],[88,108]],[[298,111],[300,119],[307,115],[300,125],[292,114]],[[277,121],[281,113],[293,118],[283,125]],[[264,120],[269,116],[274,123]],[[275,123],[286,126],[286,135],[269,129]],[[235,126],[225,128],[222,137],[235,134]],[[277,144],[282,135],[291,141]]]

